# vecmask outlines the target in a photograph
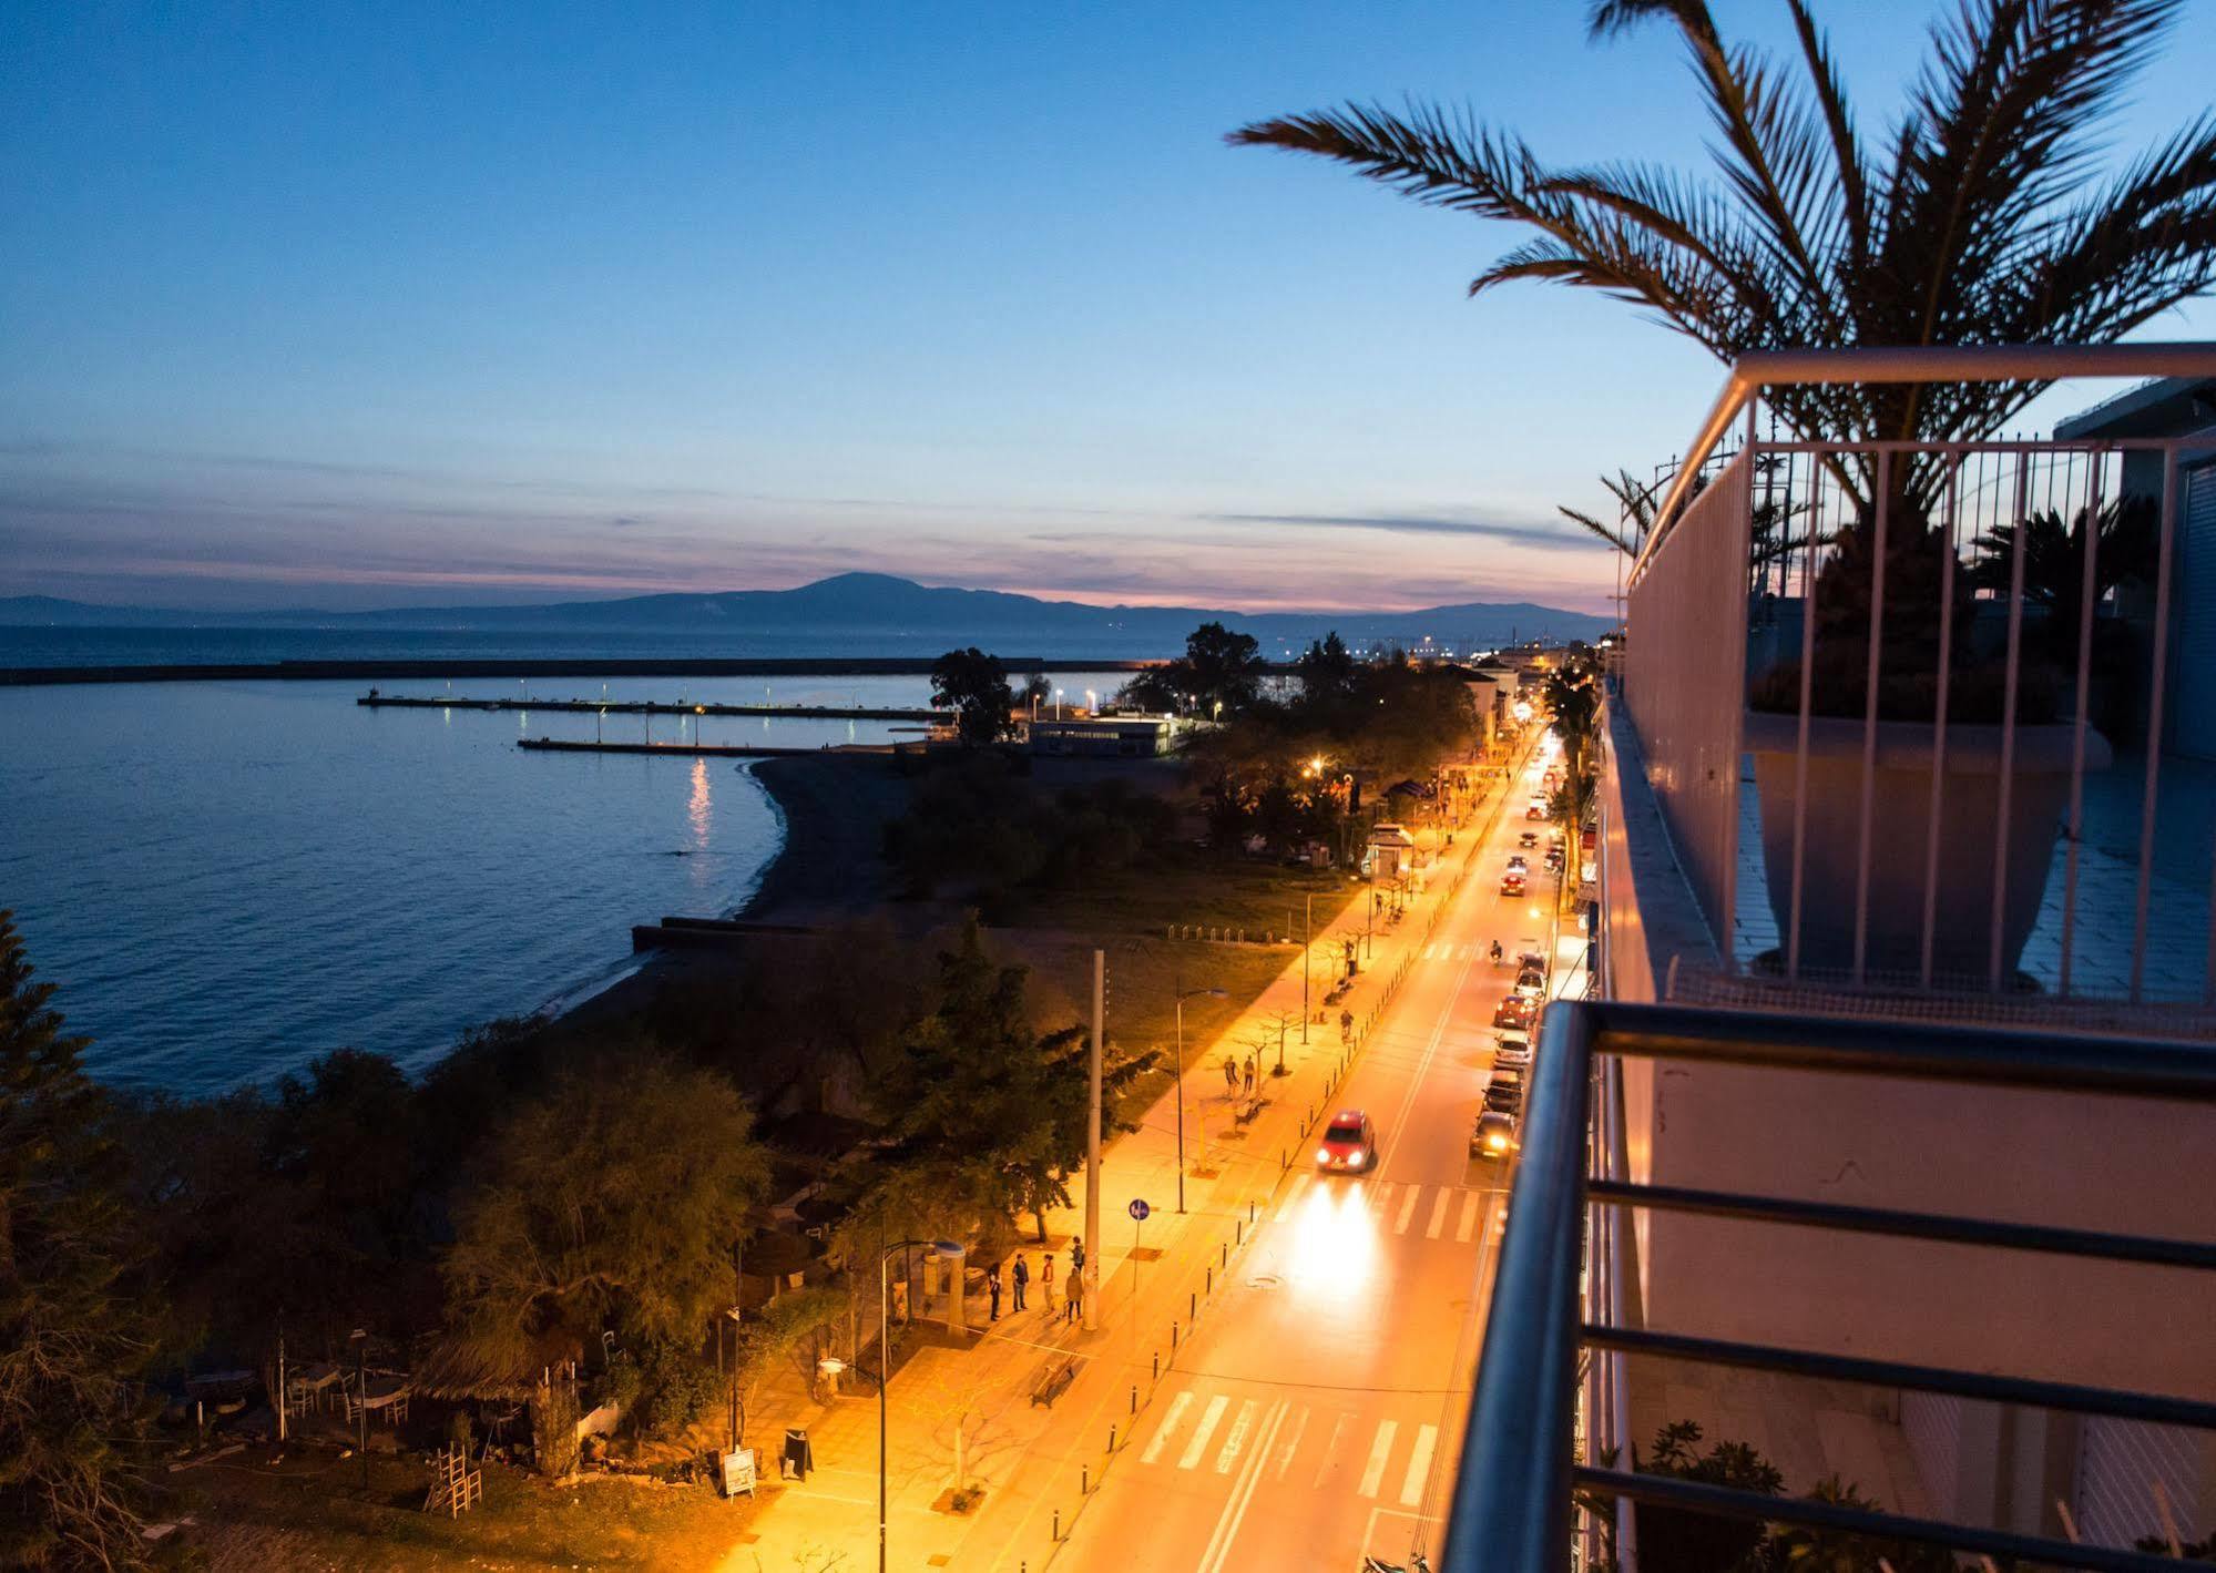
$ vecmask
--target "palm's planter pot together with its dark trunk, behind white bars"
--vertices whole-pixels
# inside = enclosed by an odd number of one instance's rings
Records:
[[[1817,572],[1815,651],[1808,671],[1808,771],[1799,775],[1802,662],[1757,674],[1744,747],[1755,758],[1762,855],[1777,933],[1793,924],[1793,824],[1802,822],[1799,959],[1846,968],[1855,959],[1861,884],[1861,791],[1870,667],[1875,521],[1861,505]],[[2025,640],[2014,691],[2008,822],[2001,806],[2005,658],[1977,627],[1974,576],[1952,574],[1946,733],[1939,747],[1939,636],[1946,554],[1915,479],[1888,507],[1884,616],[1879,620],[1877,749],[1864,966],[1915,975],[1923,959],[1923,899],[1932,835],[1932,769],[1939,767],[1939,862],[1932,908],[1932,977],[1983,979],[1992,964],[1992,911],[2001,902],[2001,970],[2014,975],[2039,919],[2054,831],[2070,798],[2076,727],[2061,713],[2061,680],[2045,649]],[[2085,769],[2107,769],[2107,742],[2087,731]]]

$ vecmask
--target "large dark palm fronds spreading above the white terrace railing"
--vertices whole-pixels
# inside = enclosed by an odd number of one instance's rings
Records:
[[[1263,120],[1230,142],[1316,153],[1418,202],[1522,224],[1536,235],[1471,295],[1516,279],[1602,290],[1722,361],[2114,341],[2216,284],[2216,117],[2076,195],[2181,9],[1961,0],[1932,24],[1899,120],[1866,142],[1810,0],[1786,0],[1797,71],[1728,44],[1706,0],[1596,0],[1596,38],[1649,20],[1678,29],[1717,131],[1720,182],[1635,160],[1549,168],[1511,131],[1429,104]],[[1773,388],[1771,408],[1804,439],[1977,439],[2043,388],[1795,385]],[[1908,501],[1928,505],[1935,474],[1906,479]],[[1848,485],[1868,501],[1866,476]]]

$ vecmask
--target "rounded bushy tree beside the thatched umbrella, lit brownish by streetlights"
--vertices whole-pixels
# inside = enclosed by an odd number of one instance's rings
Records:
[[[461,1199],[454,1340],[490,1371],[618,1325],[698,1347],[767,1188],[753,1112],[722,1077],[656,1059],[570,1072],[507,1119]]]

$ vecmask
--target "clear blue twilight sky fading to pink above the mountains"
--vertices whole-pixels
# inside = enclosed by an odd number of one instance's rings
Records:
[[[1935,0],[1937,2],[1937,0]],[[1773,0],[1717,7],[1784,42]],[[1819,0],[1866,131],[1923,0]],[[1584,4],[16,4],[0,594],[377,607],[793,585],[1600,609],[1558,525],[1720,368],[1467,279],[1516,235],[1245,120],[1469,102],[1700,160]],[[2207,102],[2196,4],[2116,128]],[[2147,337],[2212,337],[2200,301]],[[2050,397],[2043,425],[2094,397]],[[2059,405],[2056,405],[2059,401]]]

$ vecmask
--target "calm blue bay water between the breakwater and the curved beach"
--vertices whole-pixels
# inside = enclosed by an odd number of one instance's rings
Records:
[[[596,654],[640,651],[596,640]],[[1119,678],[1059,680],[1077,693]],[[448,691],[443,680],[383,687]],[[760,678],[605,687],[609,698],[765,700]],[[523,736],[592,738],[594,716],[370,711],[355,705],[359,691],[0,689],[0,906],[16,908],[38,975],[60,984],[71,1030],[93,1037],[98,1075],[208,1092],[339,1046],[421,1066],[472,1021],[612,981],[629,966],[632,924],[736,908],[778,849],[776,806],[742,760],[523,753]],[[452,691],[525,693],[496,678]],[[534,698],[601,691],[585,678],[530,687]],[[767,693],[780,705],[926,696],[924,678],[780,678]],[[893,736],[884,722],[700,724],[707,742],[804,749]],[[605,727],[647,736],[638,716]],[[652,736],[676,740],[678,720],[654,718]]]

